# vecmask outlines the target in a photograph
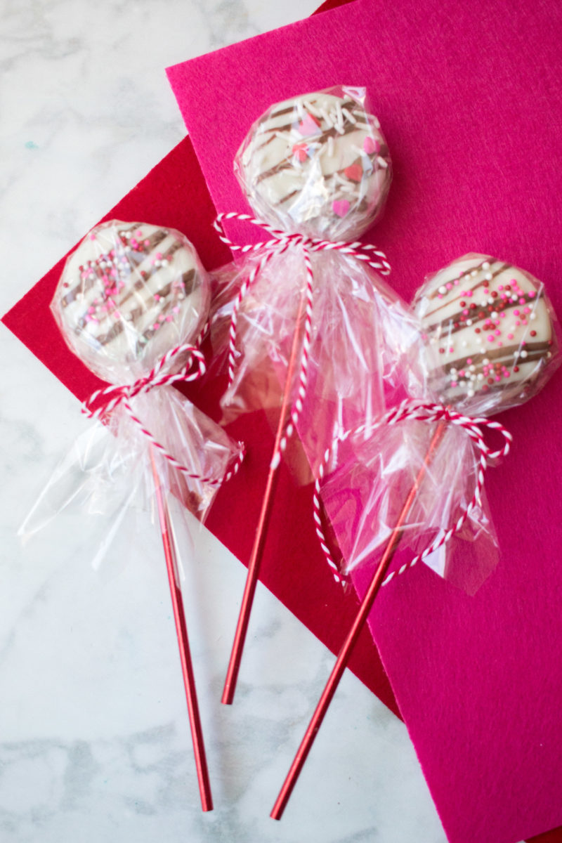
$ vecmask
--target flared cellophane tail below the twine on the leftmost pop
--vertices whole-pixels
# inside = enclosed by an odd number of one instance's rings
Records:
[[[180,454],[197,476],[175,468],[118,407],[106,424],[92,423],[73,443],[20,528],[24,539],[53,518],[96,516],[103,536],[92,558],[99,563],[127,510],[156,518],[153,460],[163,494],[174,495],[195,518],[205,520],[240,446],[172,386],[137,396],[133,409],[158,443],[170,454]]]

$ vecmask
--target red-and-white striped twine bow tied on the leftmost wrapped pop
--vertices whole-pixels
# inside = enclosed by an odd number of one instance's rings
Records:
[[[163,373],[163,369],[169,366],[169,363],[174,360],[174,357],[184,353],[189,355],[189,359],[179,372]],[[194,362],[196,364],[196,368],[193,371],[190,371]],[[173,454],[170,454],[169,451],[164,448],[162,443],[158,442],[158,439],[156,439],[153,434],[144,427],[142,421],[135,416],[130,404],[131,399],[136,395],[144,395],[147,392],[150,392],[151,389],[155,389],[158,386],[169,386],[171,384],[179,383],[179,381],[189,383],[190,381],[201,378],[205,372],[205,357],[198,348],[185,344],[176,346],[175,348],[170,349],[169,352],[166,352],[162,359],[158,360],[156,366],[154,366],[154,368],[145,377],[136,380],[134,384],[125,384],[123,386],[114,384],[112,386],[104,387],[104,389],[96,389],[96,391],[84,401],[82,412],[90,418],[99,419],[100,416],[109,415],[115,410],[115,407],[122,404],[128,415],[131,417],[131,420],[135,422],[142,434],[153,444],[153,447],[158,450],[158,453],[162,454],[162,456],[169,461],[169,464],[171,464],[174,469],[181,471],[182,474],[192,480],[198,480],[201,481],[201,483],[207,483],[210,486],[222,486],[222,483],[226,483],[237,473],[242,461],[244,460],[245,450],[243,443],[239,443],[240,451],[236,461],[233,463],[233,466],[226,474],[222,475],[222,477],[206,477],[197,474],[190,470],[185,464],[179,462],[179,459],[176,459]],[[99,399],[101,399],[99,401],[99,405],[95,410],[93,410],[93,405],[97,403]]]

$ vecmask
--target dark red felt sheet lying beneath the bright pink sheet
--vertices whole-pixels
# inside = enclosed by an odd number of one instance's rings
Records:
[[[178,228],[195,245],[207,269],[214,269],[232,257],[212,228],[215,217],[190,138],[186,137],[103,219],[138,220]],[[74,395],[84,400],[101,382],[68,350],[49,309],[64,260],[20,299],[3,317],[3,323]],[[186,394],[210,416],[216,416],[220,388],[221,384],[207,384],[203,391],[192,388]],[[244,439],[249,457],[244,470],[220,491],[206,525],[246,563],[273,438],[265,416],[260,414],[254,414],[251,425],[242,424],[241,429],[233,425],[229,432]],[[310,517],[311,494],[309,487],[297,486],[286,470],[281,471],[260,578],[314,635],[336,651],[351,623],[356,598],[351,593],[344,595],[329,575]],[[247,525],[247,529],[240,529],[240,524]],[[351,669],[398,714],[377,648],[367,630],[356,648]]]

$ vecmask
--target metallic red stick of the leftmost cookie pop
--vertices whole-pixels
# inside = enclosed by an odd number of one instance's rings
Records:
[[[201,729],[201,717],[197,704],[195,691],[195,674],[191,662],[190,642],[187,637],[187,624],[185,623],[184,600],[179,588],[178,565],[174,545],[174,533],[169,519],[169,508],[162,493],[162,485],[158,477],[156,462],[154,461],[154,449],[150,449],[150,461],[153,466],[154,489],[156,491],[156,502],[158,507],[158,520],[162,533],[166,569],[168,571],[168,582],[172,608],[174,609],[175,631],[178,636],[179,659],[181,661],[181,672],[184,677],[185,696],[187,699],[187,711],[190,716],[191,740],[195,753],[195,770],[197,771],[197,782],[201,795],[201,808],[204,811],[212,811],[211,782],[209,771],[206,765],[205,744],[203,743],[203,730]]]

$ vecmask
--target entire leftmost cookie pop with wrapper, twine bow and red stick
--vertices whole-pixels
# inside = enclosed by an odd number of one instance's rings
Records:
[[[51,302],[72,352],[110,384],[83,410],[115,433],[99,438],[96,448],[88,437],[84,453],[77,447],[78,491],[68,494],[65,478],[61,508],[75,498],[94,502],[95,513],[115,507],[102,553],[133,504],[146,506],[148,497],[158,513],[204,811],[212,808],[211,785],[181,593],[178,524],[168,496],[174,493],[202,520],[244,454],[174,388],[205,372],[196,344],[210,298],[209,278],[183,234],[113,220],[94,228],[67,259]]]

